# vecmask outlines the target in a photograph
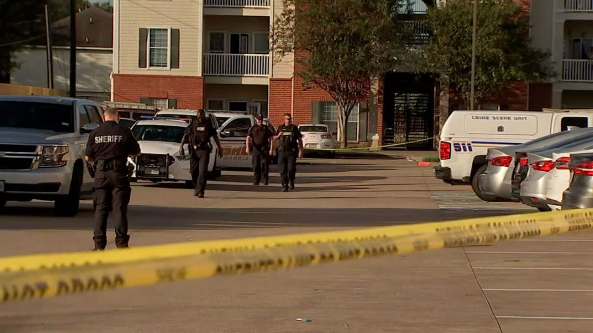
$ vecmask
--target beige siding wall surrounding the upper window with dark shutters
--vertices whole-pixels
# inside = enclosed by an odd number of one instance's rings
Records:
[[[119,1],[119,73],[147,75],[200,75],[202,0],[114,0]],[[117,8],[117,7],[116,7]],[[138,67],[140,28],[179,29],[179,67]]]

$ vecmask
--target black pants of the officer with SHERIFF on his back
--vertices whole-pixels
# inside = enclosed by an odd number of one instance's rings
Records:
[[[113,212],[115,218],[115,244],[118,248],[127,247],[127,204],[130,203],[130,182],[126,172],[109,170],[95,173],[95,248],[104,249],[107,245],[107,217]]]

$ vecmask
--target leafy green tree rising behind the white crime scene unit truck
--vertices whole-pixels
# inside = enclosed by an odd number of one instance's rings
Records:
[[[429,8],[433,36],[423,49],[423,72],[457,89],[469,108],[474,0],[447,0]],[[509,82],[553,76],[550,55],[531,46],[529,14],[513,0],[478,0],[475,98],[500,94]]]

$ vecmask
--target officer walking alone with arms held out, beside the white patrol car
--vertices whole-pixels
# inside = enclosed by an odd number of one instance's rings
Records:
[[[197,118],[187,126],[186,132],[181,139],[179,153],[181,158],[185,158],[183,145],[189,143],[190,171],[192,172],[192,181],[195,185],[193,195],[199,198],[204,197],[206,190],[206,179],[208,178],[208,163],[210,162],[210,152],[212,145],[210,139],[214,138],[218,146],[218,157],[222,157],[222,146],[218,139],[218,134],[212,126],[211,121],[206,118],[206,111],[197,110]]]

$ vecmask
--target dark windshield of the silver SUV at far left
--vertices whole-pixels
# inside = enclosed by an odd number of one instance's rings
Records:
[[[0,127],[74,132],[74,108],[56,103],[0,101]]]

